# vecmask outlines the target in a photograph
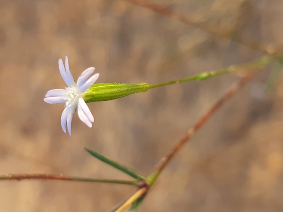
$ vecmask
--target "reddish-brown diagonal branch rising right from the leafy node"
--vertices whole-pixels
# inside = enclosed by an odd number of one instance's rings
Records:
[[[234,86],[232,86],[212,107],[195,123],[195,125],[181,138],[181,140],[173,147],[167,156],[162,158],[156,167],[156,177],[164,169],[164,167],[171,161],[176,153],[186,144],[190,138],[200,129],[206,121],[211,118],[225,102],[227,102],[233,95],[235,95],[241,88],[243,88],[256,75],[256,71],[249,71],[245,76]]]

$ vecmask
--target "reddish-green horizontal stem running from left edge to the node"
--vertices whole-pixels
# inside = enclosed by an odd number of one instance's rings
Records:
[[[108,180],[108,179],[93,179],[84,177],[73,177],[62,174],[0,174],[0,180],[24,180],[24,179],[40,179],[40,180],[68,180],[93,183],[111,183],[125,185],[139,185],[139,181],[129,180]]]

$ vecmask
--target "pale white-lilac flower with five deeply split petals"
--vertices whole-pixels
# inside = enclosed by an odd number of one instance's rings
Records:
[[[63,80],[68,85],[65,89],[53,89],[45,95],[44,101],[49,104],[57,104],[65,102],[65,109],[61,116],[61,126],[66,133],[66,124],[71,136],[71,123],[74,112],[77,110],[78,117],[88,127],[92,127],[94,118],[82,98],[82,94],[92,86],[99,77],[99,73],[94,74],[88,79],[88,77],[94,72],[95,68],[91,67],[83,71],[75,83],[73,76],[69,69],[68,57],[65,57],[65,67],[62,59],[59,59],[59,70]]]

